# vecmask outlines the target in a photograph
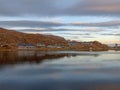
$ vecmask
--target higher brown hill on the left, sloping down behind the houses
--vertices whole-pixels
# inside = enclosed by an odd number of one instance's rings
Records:
[[[66,46],[67,41],[59,36],[43,35],[43,34],[26,34],[14,30],[0,28],[0,47],[5,45],[14,48],[19,43],[37,44],[44,43],[45,45],[62,45]]]

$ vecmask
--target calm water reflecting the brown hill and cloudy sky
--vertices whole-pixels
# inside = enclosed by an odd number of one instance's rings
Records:
[[[120,90],[120,52],[0,52],[0,90]]]

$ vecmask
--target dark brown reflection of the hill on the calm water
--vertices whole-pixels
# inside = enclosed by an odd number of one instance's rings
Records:
[[[19,64],[25,62],[41,63],[43,60],[46,59],[51,60],[71,56],[75,57],[77,56],[77,54],[37,51],[0,52],[0,65]],[[98,56],[98,54],[92,54],[91,56]]]

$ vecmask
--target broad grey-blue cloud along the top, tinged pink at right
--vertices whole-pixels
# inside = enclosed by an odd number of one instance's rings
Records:
[[[118,16],[120,0],[0,0],[2,16]]]

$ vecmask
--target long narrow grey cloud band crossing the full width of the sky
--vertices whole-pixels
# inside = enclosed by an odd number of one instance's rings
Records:
[[[65,26],[76,26],[76,27],[110,27],[118,28],[120,26],[120,21],[108,21],[108,22],[97,22],[97,23],[87,23],[87,22],[53,22],[53,21],[28,21],[28,20],[18,20],[18,21],[0,21],[1,27],[36,27],[36,28],[51,28],[51,27],[65,27]]]

